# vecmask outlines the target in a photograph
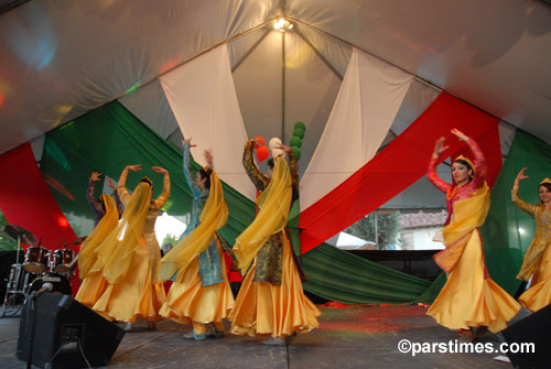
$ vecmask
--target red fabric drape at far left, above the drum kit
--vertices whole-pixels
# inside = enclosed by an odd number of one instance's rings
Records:
[[[67,241],[76,254],[78,247],[72,243],[76,235],[47,188],[29,143],[0,156],[0,208],[8,223],[42,238],[42,247],[50,250],[62,249]],[[71,281],[73,293],[77,281],[77,276]]]

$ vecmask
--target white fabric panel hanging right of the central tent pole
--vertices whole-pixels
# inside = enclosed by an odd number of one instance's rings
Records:
[[[412,75],[354,50],[320,144],[301,181],[301,208],[329,193],[377,153]]]

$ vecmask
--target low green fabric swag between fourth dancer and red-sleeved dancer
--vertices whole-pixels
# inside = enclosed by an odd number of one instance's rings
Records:
[[[327,243],[302,254],[302,268],[306,291],[343,304],[410,303],[431,285]]]

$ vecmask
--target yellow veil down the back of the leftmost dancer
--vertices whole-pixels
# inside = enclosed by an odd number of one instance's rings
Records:
[[[78,273],[83,279],[89,275],[91,267],[97,261],[96,250],[98,246],[109,236],[115,227],[117,227],[119,221],[119,210],[112,197],[106,194],[100,197],[104,200],[106,209],[105,215],[83,242],[80,252],[78,253]]]

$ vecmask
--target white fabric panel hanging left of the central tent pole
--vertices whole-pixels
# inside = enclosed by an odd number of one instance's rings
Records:
[[[185,138],[193,138],[194,159],[213,149],[218,176],[253,199],[255,187],[241,164],[247,132],[239,111],[226,45],[161,77],[161,85]]]

